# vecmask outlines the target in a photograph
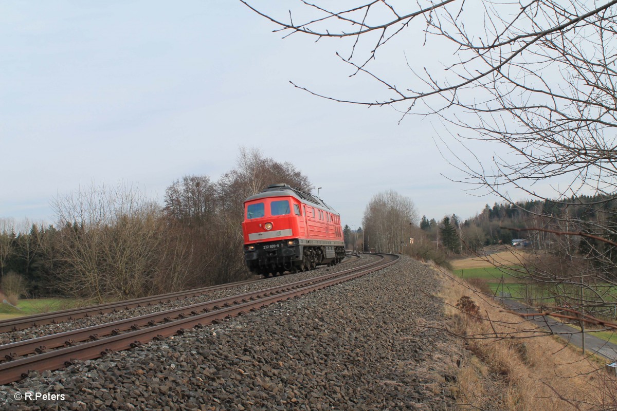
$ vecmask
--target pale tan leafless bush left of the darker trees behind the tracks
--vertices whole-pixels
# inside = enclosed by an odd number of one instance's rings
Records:
[[[186,249],[136,187],[92,184],[53,206],[60,229],[48,255],[70,295],[102,302],[184,287]]]

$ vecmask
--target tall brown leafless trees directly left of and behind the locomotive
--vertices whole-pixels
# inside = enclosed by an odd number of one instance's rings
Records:
[[[286,183],[310,190],[308,177],[294,165],[273,160],[258,149],[239,149],[236,168],[217,181],[185,176],[165,192],[165,212],[184,232],[191,278],[223,283],[245,277],[242,230],[244,200],[269,184]]]

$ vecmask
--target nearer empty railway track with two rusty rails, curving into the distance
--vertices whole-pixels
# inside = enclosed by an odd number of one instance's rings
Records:
[[[31,370],[56,370],[75,360],[94,359],[106,356],[110,351],[130,349],[152,340],[181,335],[188,328],[214,324],[247,311],[255,311],[260,307],[377,271],[394,264],[399,258],[394,254],[381,254],[379,257],[378,261],[370,264],[313,279],[4,344],[0,346],[0,357],[4,359],[4,362],[0,363],[0,385],[17,381]],[[234,287],[237,287],[237,284]],[[61,314],[64,315],[66,313]],[[48,351],[50,349],[53,351]]]

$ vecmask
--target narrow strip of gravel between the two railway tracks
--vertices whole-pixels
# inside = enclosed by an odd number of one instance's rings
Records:
[[[370,256],[361,256],[360,259],[352,259],[345,264],[339,264],[334,267],[323,266],[312,271],[282,275],[280,277],[271,277],[269,279],[264,279],[262,282],[259,283],[230,288],[229,290],[215,291],[213,293],[207,293],[205,295],[196,296],[193,298],[185,298],[176,301],[170,301],[168,303],[154,304],[152,306],[138,307],[118,312],[109,312],[107,314],[92,315],[88,318],[64,321],[58,324],[41,325],[36,328],[27,328],[25,330],[19,330],[16,332],[0,333],[0,345],[14,343],[15,341],[28,340],[30,338],[37,338],[44,335],[77,330],[77,328],[85,328],[92,325],[106,324],[117,320],[138,317],[139,315],[152,314],[153,312],[165,311],[176,307],[204,303],[205,301],[211,301],[213,299],[249,293],[251,291],[261,290],[263,288],[276,287],[277,285],[283,285],[300,280],[311,279],[313,277],[318,277],[319,275],[326,274],[326,272],[342,271],[357,266],[362,266],[363,264],[368,264],[371,261],[372,259]]]

